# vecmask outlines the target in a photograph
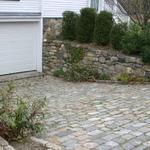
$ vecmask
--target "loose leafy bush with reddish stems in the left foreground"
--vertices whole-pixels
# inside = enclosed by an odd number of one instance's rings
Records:
[[[10,83],[0,89],[0,136],[7,140],[19,140],[41,131],[46,104],[45,99],[27,102],[21,97],[14,98],[13,93]]]

